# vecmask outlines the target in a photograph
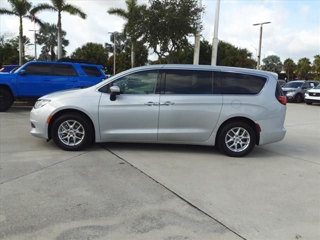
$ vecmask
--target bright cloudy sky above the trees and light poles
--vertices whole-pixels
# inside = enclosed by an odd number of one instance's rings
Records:
[[[82,8],[87,19],[62,13],[62,29],[67,32],[66,39],[70,43],[66,47],[67,54],[82,44],[92,41],[110,42],[107,32],[121,31],[124,20],[106,13],[109,7],[125,8],[124,0],[66,0]],[[48,0],[31,0],[36,5]],[[148,4],[147,0],[138,0]],[[215,0],[202,0],[205,12],[202,15],[202,38],[212,42],[214,30]],[[6,0],[0,0],[0,7],[9,7]],[[50,23],[57,22],[57,13],[42,12],[37,15]],[[221,0],[219,11],[218,39],[230,42],[239,47],[246,47],[255,57],[258,47],[259,26],[254,23],[271,21],[263,25],[261,57],[276,54],[281,61],[290,57],[295,62],[301,57],[313,60],[320,54],[320,1],[319,0]],[[14,16],[0,16],[0,32],[9,31],[18,34],[19,20]],[[28,31],[34,25],[23,20],[23,34],[33,42],[33,33]],[[38,29],[38,26],[36,26]],[[190,37],[193,43],[194,38]],[[33,55],[30,46],[28,53]],[[37,46],[37,54],[40,46]],[[150,51],[151,53],[152,51]],[[151,60],[156,59],[150,54]]]

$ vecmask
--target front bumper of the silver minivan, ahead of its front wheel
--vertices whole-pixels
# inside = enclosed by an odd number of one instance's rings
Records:
[[[55,107],[50,103],[47,103],[40,108],[32,107],[32,110],[30,111],[30,133],[32,136],[48,139],[48,124],[46,121],[54,110]]]

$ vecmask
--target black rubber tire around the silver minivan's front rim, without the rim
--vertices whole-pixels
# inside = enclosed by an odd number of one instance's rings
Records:
[[[78,123],[81,124],[82,128],[80,128],[80,130],[81,129],[84,130],[84,136],[83,136],[83,139],[79,143],[76,143],[75,145],[67,145],[66,143],[63,143],[62,140],[59,139],[58,129],[59,129],[60,125],[65,121],[70,121],[70,122],[77,121]],[[72,129],[71,130],[70,129],[71,128],[68,129],[70,131],[70,132],[68,131],[69,133],[71,133],[71,131],[72,131]],[[71,135],[72,135],[72,133],[71,133]],[[68,134],[68,133],[63,133],[63,134]],[[76,135],[76,134],[78,134],[78,133],[74,133],[74,135]],[[93,126],[92,126],[91,122],[88,119],[86,119],[86,117],[82,116],[81,114],[66,113],[66,114],[59,116],[52,123],[51,136],[52,136],[52,140],[54,141],[54,143],[58,147],[60,147],[61,149],[67,150],[67,151],[78,151],[78,150],[81,150],[84,147],[88,146],[90,144],[90,142],[92,141]],[[70,136],[70,134],[68,136]],[[79,136],[81,136],[81,135],[79,135]],[[73,140],[71,140],[71,139],[73,139]],[[74,139],[75,138],[70,136],[71,143],[72,143],[72,141],[74,141]]]

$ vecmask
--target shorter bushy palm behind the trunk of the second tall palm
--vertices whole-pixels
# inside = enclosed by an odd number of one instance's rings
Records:
[[[36,41],[43,45],[41,47],[41,54],[39,58],[41,60],[51,61],[55,60],[55,47],[57,46],[58,40],[58,28],[56,24],[44,23],[43,26],[40,27],[39,33],[36,36]],[[66,51],[64,50],[64,46],[69,44],[69,40],[65,39],[66,31],[61,30],[62,35],[62,56],[65,55]]]

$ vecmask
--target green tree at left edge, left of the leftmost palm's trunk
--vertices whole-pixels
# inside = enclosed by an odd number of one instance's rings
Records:
[[[0,67],[6,64],[19,63],[18,43],[9,32],[0,34]]]

